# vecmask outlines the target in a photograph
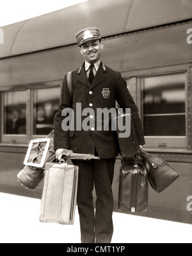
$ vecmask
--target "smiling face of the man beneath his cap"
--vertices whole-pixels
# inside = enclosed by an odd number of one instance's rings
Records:
[[[84,60],[89,63],[95,63],[100,60],[100,51],[103,49],[103,44],[99,40],[93,40],[84,42],[79,47],[81,55],[83,55]]]

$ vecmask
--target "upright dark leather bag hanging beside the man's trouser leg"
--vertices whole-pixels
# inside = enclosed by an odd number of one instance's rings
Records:
[[[147,212],[147,169],[140,161],[129,161],[120,168],[118,209],[122,212]]]

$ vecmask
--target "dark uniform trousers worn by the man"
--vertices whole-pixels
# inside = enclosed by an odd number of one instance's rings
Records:
[[[113,235],[113,183],[116,158],[79,161],[77,206],[81,227],[81,242],[108,243]],[[93,206],[93,187],[96,203]]]

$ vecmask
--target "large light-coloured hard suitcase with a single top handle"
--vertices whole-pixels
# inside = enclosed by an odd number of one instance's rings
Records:
[[[74,224],[79,169],[67,163],[45,165],[40,221]]]

